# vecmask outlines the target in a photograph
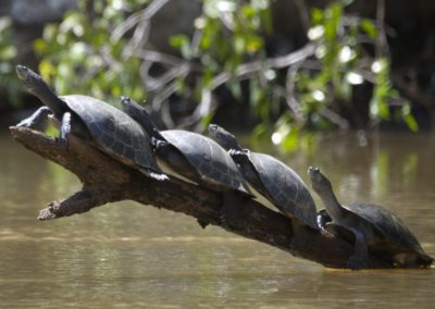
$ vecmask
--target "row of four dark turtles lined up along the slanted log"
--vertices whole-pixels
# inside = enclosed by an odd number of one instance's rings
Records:
[[[212,138],[181,129],[159,131],[146,110],[127,97],[122,98],[121,111],[88,96],[60,97],[23,65],[16,73],[45,104],[17,126],[35,127],[51,115],[60,127],[58,143],[64,147],[73,134],[157,181],[167,181],[169,174],[217,191],[224,222],[234,218],[237,203],[257,198],[290,218],[294,232],[313,228],[352,242],[350,269],[365,268],[369,251],[400,267],[428,267],[433,261],[394,213],[375,205],[340,205],[331,182],[316,168],[308,173],[325,207],[319,212],[294,170],[269,154],[241,148],[233,134],[215,124],[209,126]],[[204,218],[199,223],[208,222]]]

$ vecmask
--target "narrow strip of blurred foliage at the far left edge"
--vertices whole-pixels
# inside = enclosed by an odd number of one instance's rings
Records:
[[[13,45],[11,18],[0,17],[0,95],[12,106],[20,106],[21,85],[15,77],[14,59],[16,48]],[[3,97],[4,98],[4,97]]]

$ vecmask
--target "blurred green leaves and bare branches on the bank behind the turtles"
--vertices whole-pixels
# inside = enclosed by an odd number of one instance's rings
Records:
[[[152,17],[167,2],[79,1],[34,42],[40,74],[60,94],[146,100],[163,127],[201,131],[220,109],[244,106],[254,136],[284,149],[301,132],[365,129],[385,121],[419,129],[415,96],[391,77],[384,0],[372,17],[348,13],[355,1],[311,8],[295,0],[303,34],[288,40],[291,47],[274,38],[271,1],[204,0],[191,33],[169,38],[173,52],[148,40]],[[13,75],[10,48],[2,36],[0,52],[9,55],[2,76]],[[3,78],[17,101],[14,78]]]

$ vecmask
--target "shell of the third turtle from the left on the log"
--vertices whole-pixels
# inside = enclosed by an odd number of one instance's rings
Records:
[[[315,203],[300,176],[272,156],[250,152],[249,159],[268,190],[266,198],[284,214],[318,228]]]

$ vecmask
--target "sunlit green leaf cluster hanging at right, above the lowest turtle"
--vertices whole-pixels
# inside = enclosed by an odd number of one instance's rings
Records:
[[[373,84],[369,114],[372,123],[382,120],[400,122],[401,119],[410,131],[418,131],[410,102],[401,98],[391,85],[389,60],[373,59],[364,50],[363,45],[374,46],[380,35],[374,22],[349,18],[344,9],[350,2],[335,1],[324,10],[311,10],[312,25],[307,36],[310,41],[318,44],[315,60],[308,67],[302,64],[290,81],[295,84],[295,97],[300,104],[302,120],[297,122],[285,113],[271,132],[273,141],[284,149],[296,147],[295,143],[303,127],[346,127],[340,107],[352,109],[353,88],[368,82]],[[396,104],[401,108],[394,108]],[[263,119],[266,114],[260,113]],[[270,119],[268,121],[271,122]],[[284,137],[274,140],[273,136]]]

